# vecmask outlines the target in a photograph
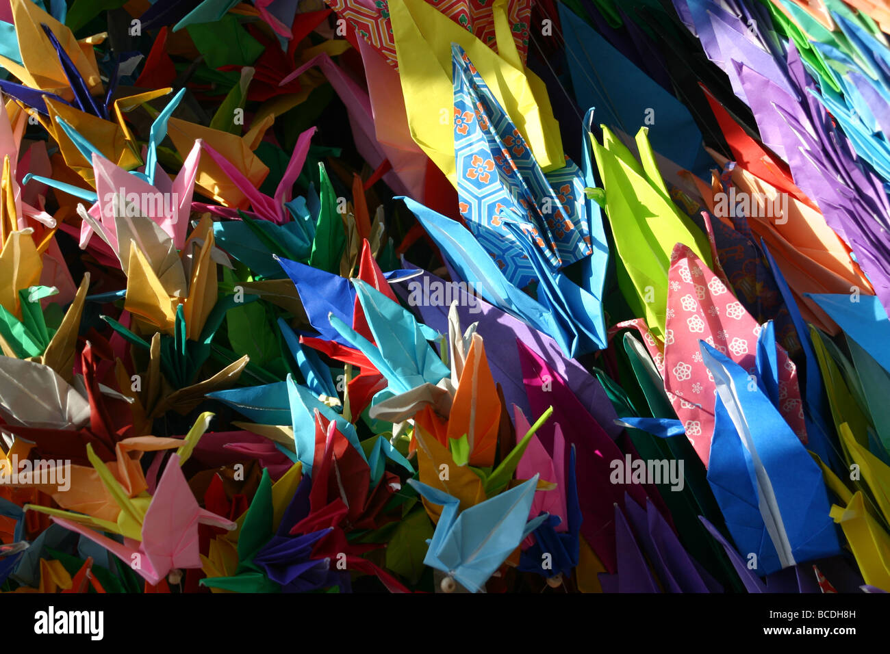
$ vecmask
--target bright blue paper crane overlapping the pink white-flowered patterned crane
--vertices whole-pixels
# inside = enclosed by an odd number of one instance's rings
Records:
[[[765,351],[773,349],[768,330],[762,335]],[[774,359],[758,359],[752,383],[744,368],[707,343],[701,342],[701,356],[718,395],[708,482],[740,551],[754,554],[763,574],[836,554],[821,472],[773,406]]]

